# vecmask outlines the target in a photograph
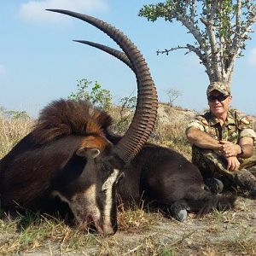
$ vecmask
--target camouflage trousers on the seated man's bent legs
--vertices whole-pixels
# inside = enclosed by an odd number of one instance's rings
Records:
[[[212,149],[204,149],[193,146],[192,148],[192,162],[197,166],[204,179],[209,177],[216,177],[222,179],[222,177],[228,177],[230,181],[235,183],[239,182],[240,175],[246,174],[250,179],[255,180],[256,183],[256,150],[254,149],[253,155],[247,159],[238,159],[241,163],[240,170],[236,172],[230,172],[227,170],[227,160],[224,156],[218,154]],[[255,177],[253,177],[253,175]],[[254,181],[253,181],[254,183]]]

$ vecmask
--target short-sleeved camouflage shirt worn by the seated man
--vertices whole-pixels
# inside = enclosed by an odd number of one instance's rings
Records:
[[[242,137],[252,137],[254,141],[256,138],[253,125],[247,115],[232,108],[229,110],[228,118],[223,126],[220,125],[218,119],[211,112],[207,112],[190,121],[187,129],[190,127],[205,131],[217,140],[225,140],[231,143],[238,143]]]

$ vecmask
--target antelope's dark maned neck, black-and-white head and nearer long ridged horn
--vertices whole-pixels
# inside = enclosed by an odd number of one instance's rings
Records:
[[[46,209],[56,195],[66,201],[79,225],[92,218],[104,234],[117,230],[116,183],[154,128],[157,95],[147,63],[137,47],[115,27],[89,15],[70,15],[96,26],[123,49],[137,77],[134,118],[113,145],[106,137],[111,118],[84,102],[57,101],[40,113],[38,124],[0,161],[4,210]]]

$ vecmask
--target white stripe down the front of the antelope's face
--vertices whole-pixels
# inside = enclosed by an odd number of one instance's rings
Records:
[[[105,190],[106,193],[106,202],[103,212],[103,222],[105,227],[111,226],[110,212],[112,209],[112,187],[113,183],[116,182],[116,179],[119,176],[119,170],[113,169],[113,172],[108,177],[108,179],[103,183],[102,190]]]

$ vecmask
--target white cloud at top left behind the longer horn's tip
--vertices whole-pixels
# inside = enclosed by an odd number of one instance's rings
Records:
[[[41,0],[21,3],[20,16],[25,20],[33,21],[59,21],[61,15],[53,15],[45,9],[68,9],[77,12],[106,10],[108,5],[105,0]]]

